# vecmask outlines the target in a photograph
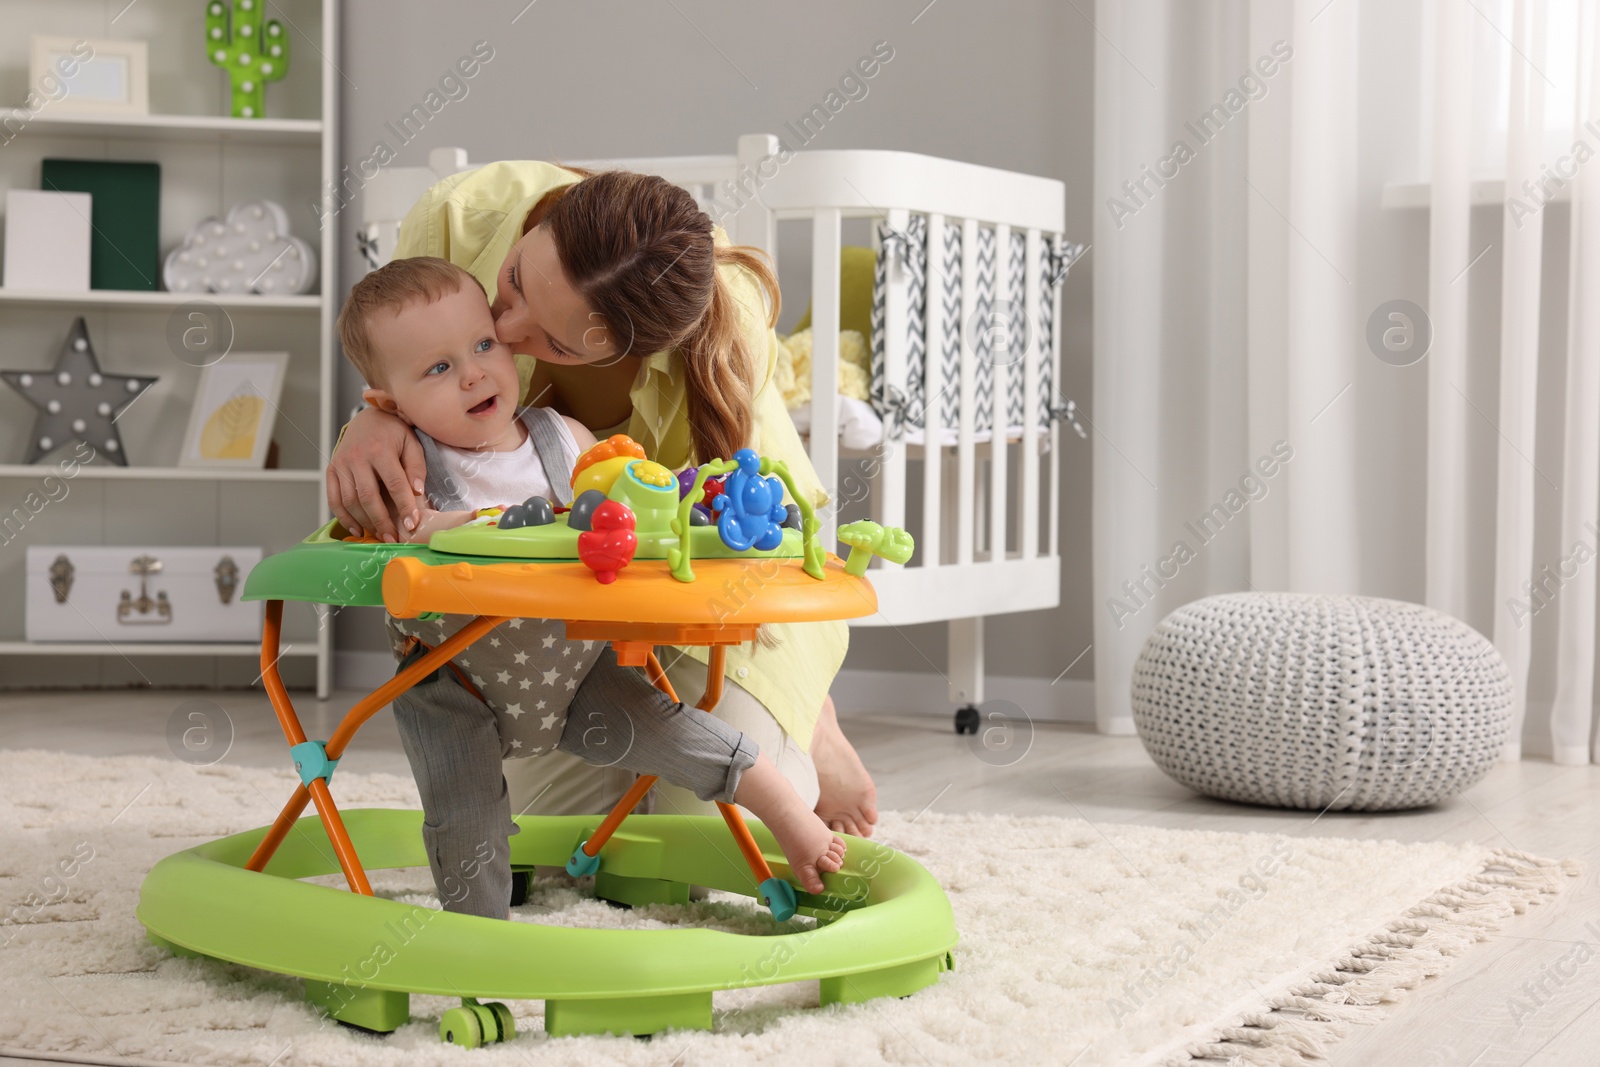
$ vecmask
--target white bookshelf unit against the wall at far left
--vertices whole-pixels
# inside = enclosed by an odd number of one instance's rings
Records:
[[[318,226],[314,203],[339,170],[338,0],[274,0],[267,16],[290,34],[288,77],[267,86],[262,118],[232,118],[226,75],[205,48],[205,3],[142,0],[5,0],[0,34],[0,190],[38,187],[45,158],[155,162],[162,166],[160,253],[165,256],[203,218],[243,200],[282,203],[293,232],[318,250],[318,291],[306,296],[106,291],[46,293],[0,278],[0,368],[48,368],[72,320],[82,315],[107,373],[157,374],[160,381],[118,419],[133,466],[78,466],[69,491],[32,515],[21,533],[0,536],[0,688],[61,685],[259,683],[258,645],[139,641],[29,643],[24,638],[26,544],[259,544],[278,552],[328,518],[325,458],[333,445],[338,227]],[[146,40],[150,50],[149,115],[37,114],[18,109],[29,88],[32,34]],[[3,198],[0,198],[3,210]],[[280,469],[178,467],[200,370],[170,350],[168,320],[205,301],[234,325],[235,352],[290,352],[274,440]],[[58,472],[56,459],[8,462],[26,454],[34,410],[0,386],[0,518]],[[285,613],[285,678],[331,681],[331,630],[315,609]],[[162,659],[168,657],[168,659]],[[138,661],[138,667],[134,667]],[[142,680],[142,681],[141,681]]]

